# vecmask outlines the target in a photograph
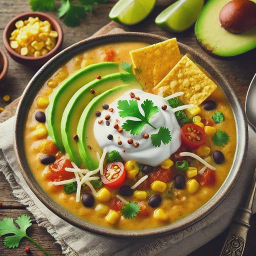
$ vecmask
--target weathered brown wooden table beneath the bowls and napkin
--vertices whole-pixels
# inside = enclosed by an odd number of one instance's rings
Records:
[[[30,10],[27,2],[28,1],[24,0],[0,0],[0,34],[2,34],[3,28],[8,20],[19,14],[20,10]],[[114,2],[116,2],[116,0],[108,0],[107,4],[98,5],[93,14],[88,14],[87,18],[82,21],[79,27],[67,27],[61,20],[60,23],[64,31],[64,41],[62,47],[65,48],[74,42],[90,36],[100,27],[107,24],[109,22],[108,12],[113,6]],[[121,25],[120,27],[127,31],[143,31],[166,37],[175,36],[177,37],[178,41],[193,47],[203,54],[206,54],[197,44],[194,37],[193,28],[183,33],[174,34],[166,33],[154,24],[154,18],[156,17],[157,13],[166,7],[169,2],[171,2],[171,0],[158,0],[157,6],[155,7],[153,13],[146,20],[132,27],[125,27]],[[56,12],[53,12],[52,15],[56,16]],[[0,40],[0,47],[3,48],[2,40]],[[246,54],[234,58],[220,59],[211,56],[208,56],[208,58],[222,71],[224,75],[226,75],[244,105],[248,84],[256,71],[256,50],[254,49]],[[14,100],[20,96],[27,82],[35,71],[35,68],[20,65],[9,57],[8,75],[3,86],[0,87],[0,106],[5,106],[7,104],[2,100],[3,95],[9,94],[11,96],[11,100]],[[0,219],[6,216],[16,218],[20,214],[29,214],[32,217],[33,222],[32,227],[29,228],[29,234],[35,240],[39,241],[42,246],[52,253],[52,255],[60,253],[61,249],[58,244],[54,243],[54,239],[44,228],[39,227],[35,223],[33,216],[22,204],[17,202],[16,198],[12,195],[11,188],[2,173],[0,173],[0,189],[0,201],[2,201],[2,207],[0,208]],[[254,237],[256,237],[256,216],[252,217],[251,226],[252,227],[249,230],[245,248],[245,256],[254,255],[256,251],[256,243],[254,242]],[[218,255],[225,239],[226,232],[227,231],[224,231],[213,240],[192,252],[189,256]],[[29,244],[33,255],[42,255],[36,247],[28,243],[26,240],[22,240],[19,248],[16,249],[6,249],[0,241],[0,255],[26,255],[24,247],[27,244]]]

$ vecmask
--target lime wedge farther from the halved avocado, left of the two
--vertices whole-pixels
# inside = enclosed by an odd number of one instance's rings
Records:
[[[125,25],[134,25],[152,11],[156,0],[119,0],[111,9],[109,17]]]

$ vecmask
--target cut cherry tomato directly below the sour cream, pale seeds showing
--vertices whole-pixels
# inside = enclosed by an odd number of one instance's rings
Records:
[[[108,187],[121,186],[126,178],[126,170],[122,162],[110,162],[104,168],[102,182]]]

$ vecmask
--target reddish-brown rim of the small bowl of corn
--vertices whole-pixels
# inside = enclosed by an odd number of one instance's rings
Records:
[[[8,33],[8,30],[11,27],[13,27],[13,29],[15,29],[15,22],[17,20],[24,20],[25,18],[28,18],[29,16],[36,17],[38,15],[45,18],[44,20],[48,20],[50,22],[52,28],[58,33],[56,45],[49,52],[47,52],[46,54],[39,56],[39,57],[23,56],[23,55],[17,53],[14,49],[12,49],[10,47],[9,36],[10,36],[11,31],[13,31],[13,30],[11,30],[10,33]],[[15,17],[13,17],[6,24],[6,26],[4,27],[4,30],[3,30],[2,38],[3,38],[3,45],[6,48],[6,50],[8,52],[10,52],[11,54],[15,55],[16,57],[22,58],[25,60],[39,60],[39,59],[44,59],[44,58],[49,57],[50,55],[52,55],[52,53],[54,53],[55,51],[57,51],[59,49],[59,47],[61,46],[62,41],[63,41],[63,30],[62,30],[62,27],[60,26],[59,22],[50,14],[40,12],[40,11],[27,11],[27,12],[23,12]]]

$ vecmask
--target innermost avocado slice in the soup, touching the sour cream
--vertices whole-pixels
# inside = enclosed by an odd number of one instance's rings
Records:
[[[96,156],[96,152],[98,152],[99,155],[102,153],[102,150],[93,134],[93,126],[97,117],[95,112],[102,110],[102,104],[109,104],[124,94],[126,91],[135,88],[142,89],[138,83],[133,83],[119,85],[112,89],[106,90],[105,92],[93,98],[84,108],[77,125],[77,145],[83,163],[87,169],[93,170],[98,167],[99,162]]]

